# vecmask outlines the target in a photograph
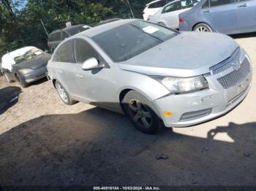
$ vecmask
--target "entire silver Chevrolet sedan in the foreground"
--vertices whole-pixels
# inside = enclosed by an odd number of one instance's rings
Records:
[[[62,101],[127,114],[156,133],[233,109],[249,92],[252,66],[223,34],[179,33],[143,20],[118,20],[62,42],[48,62]],[[99,116],[100,117],[100,116]]]

